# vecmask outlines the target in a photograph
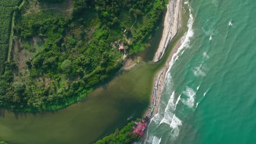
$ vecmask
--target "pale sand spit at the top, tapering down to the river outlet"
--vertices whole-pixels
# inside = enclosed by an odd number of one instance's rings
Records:
[[[178,29],[181,27],[181,2],[182,0],[170,0],[167,4],[167,11],[164,21],[164,32],[162,33],[162,38],[158,46],[158,51],[156,51],[155,53],[153,62],[158,62],[162,58],[168,44],[177,34]]]

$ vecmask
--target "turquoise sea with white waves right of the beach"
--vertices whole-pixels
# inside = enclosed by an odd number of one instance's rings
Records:
[[[256,1],[189,7],[146,143],[256,143]]]

